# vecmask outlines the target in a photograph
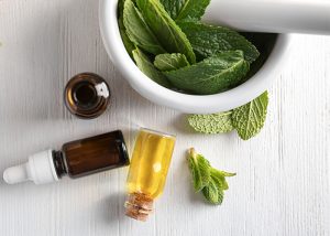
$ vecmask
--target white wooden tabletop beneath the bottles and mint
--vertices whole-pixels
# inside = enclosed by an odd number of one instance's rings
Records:
[[[96,0],[0,1],[0,172],[46,148],[135,125],[177,133],[166,190],[147,223],[123,215],[127,169],[50,185],[0,182],[1,236],[330,235],[330,37],[295,35],[270,88],[265,128],[194,133],[185,115],[138,95],[103,49]],[[96,120],[72,117],[66,82],[80,72],[107,78],[112,103]],[[237,172],[221,206],[193,192],[189,147]]]

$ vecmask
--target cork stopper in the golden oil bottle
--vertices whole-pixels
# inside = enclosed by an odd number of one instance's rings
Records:
[[[153,199],[144,193],[132,193],[129,195],[124,206],[125,215],[136,221],[145,222],[153,211]]]

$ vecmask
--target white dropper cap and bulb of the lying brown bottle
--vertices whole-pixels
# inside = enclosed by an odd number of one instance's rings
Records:
[[[25,164],[11,167],[4,170],[3,180],[8,184],[33,181],[35,184],[51,183],[58,180],[53,150],[46,150],[29,157]]]

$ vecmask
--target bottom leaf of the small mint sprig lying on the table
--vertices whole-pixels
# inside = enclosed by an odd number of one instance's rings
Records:
[[[215,205],[220,205],[223,201],[223,190],[218,179],[211,178],[210,183],[202,189],[205,199]]]

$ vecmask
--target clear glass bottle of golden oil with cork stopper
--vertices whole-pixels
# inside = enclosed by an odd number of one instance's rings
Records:
[[[140,130],[127,183],[128,216],[146,221],[153,201],[163,193],[174,144],[174,136],[144,128]]]

